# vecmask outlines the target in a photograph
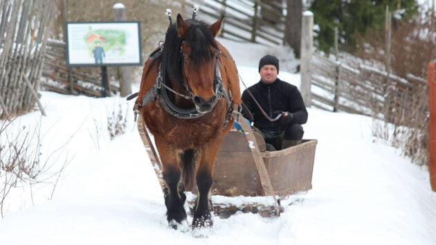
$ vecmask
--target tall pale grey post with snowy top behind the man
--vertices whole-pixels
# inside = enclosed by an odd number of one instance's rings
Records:
[[[306,107],[311,107],[311,65],[312,47],[314,45],[314,14],[303,12],[301,21],[301,84],[300,91]]]

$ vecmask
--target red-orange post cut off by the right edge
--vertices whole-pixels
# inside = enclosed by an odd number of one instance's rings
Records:
[[[430,119],[428,120],[428,172],[430,173],[430,185],[436,192],[436,82],[435,82],[435,62],[430,61],[427,68],[428,82],[428,110]]]

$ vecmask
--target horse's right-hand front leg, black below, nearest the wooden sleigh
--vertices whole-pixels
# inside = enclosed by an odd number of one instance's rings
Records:
[[[215,158],[217,158],[221,140],[218,142],[208,143],[199,151],[199,167],[197,169],[196,181],[198,189],[197,203],[194,210],[194,219],[192,219],[193,228],[204,228],[213,225],[212,206],[210,206],[210,188],[212,186],[213,167]]]

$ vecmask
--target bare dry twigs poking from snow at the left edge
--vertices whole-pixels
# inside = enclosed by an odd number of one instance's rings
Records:
[[[41,161],[42,135],[40,133],[40,125],[37,125],[34,129],[31,127],[20,127],[19,131],[14,131],[11,125],[15,120],[17,118],[10,122],[7,120],[0,121],[1,217],[4,217],[8,212],[6,200],[14,189],[22,188],[30,190],[30,198],[33,202],[32,186],[36,183],[44,183],[53,185],[51,192],[51,197],[53,197],[60,174],[69,163],[68,160],[65,160],[60,170],[54,171],[54,163],[59,161],[61,156],[61,154],[57,153],[62,153],[69,141],[55,149],[51,154],[48,154],[44,161]],[[51,161],[51,158],[56,159]]]

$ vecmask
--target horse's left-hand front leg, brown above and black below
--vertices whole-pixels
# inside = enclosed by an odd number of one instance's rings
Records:
[[[167,186],[163,195],[167,207],[167,221],[172,228],[176,229],[174,221],[181,224],[186,219],[186,211],[183,207],[186,195],[183,193],[183,185],[179,184],[181,179],[181,168],[177,157],[179,151],[165,143],[158,143],[158,140],[156,140],[156,147],[162,159],[163,179]]]

